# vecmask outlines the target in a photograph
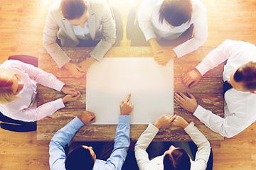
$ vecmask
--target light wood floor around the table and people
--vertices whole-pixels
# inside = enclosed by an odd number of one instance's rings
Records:
[[[121,8],[125,24],[132,0],[112,3]],[[1,63],[9,55],[37,56],[51,0],[0,0],[0,4]],[[255,0],[204,0],[203,4],[208,14],[208,39],[204,45],[218,46],[227,38],[256,44]],[[125,35],[122,46],[129,46]],[[0,169],[49,169],[48,143],[38,142],[36,132],[0,130]],[[211,144],[214,170],[256,169],[256,123],[231,139]]]

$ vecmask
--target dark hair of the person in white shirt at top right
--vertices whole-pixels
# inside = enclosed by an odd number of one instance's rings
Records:
[[[191,21],[192,4],[190,0],[164,0],[159,10],[159,22],[164,19],[171,26],[181,26],[181,24]]]

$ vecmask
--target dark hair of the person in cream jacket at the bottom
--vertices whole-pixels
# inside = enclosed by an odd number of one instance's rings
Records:
[[[164,170],[189,170],[191,162],[184,149],[174,149],[171,154],[164,156]]]

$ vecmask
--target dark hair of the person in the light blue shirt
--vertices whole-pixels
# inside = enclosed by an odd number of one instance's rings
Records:
[[[95,161],[90,154],[89,149],[85,149],[81,145],[75,147],[65,159],[65,169],[67,170],[92,170]]]

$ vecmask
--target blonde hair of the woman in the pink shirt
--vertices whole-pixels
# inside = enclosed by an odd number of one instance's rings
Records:
[[[14,84],[13,77],[21,77],[20,74],[9,69],[0,68],[0,103],[10,103],[19,98],[14,94],[11,86]]]

